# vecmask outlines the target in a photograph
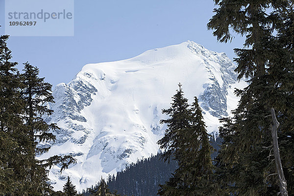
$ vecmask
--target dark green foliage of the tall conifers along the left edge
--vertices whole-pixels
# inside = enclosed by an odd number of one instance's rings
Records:
[[[8,36],[0,37],[0,195],[46,196],[51,193],[47,168],[62,163],[62,170],[75,160],[71,156],[53,156],[37,160],[40,142],[54,141],[49,131],[58,128],[42,116],[53,111],[51,85],[39,78],[39,70],[25,63],[20,74],[11,63],[6,46]]]

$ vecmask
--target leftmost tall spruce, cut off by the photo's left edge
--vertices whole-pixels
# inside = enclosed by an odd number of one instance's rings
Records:
[[[26,173],[23,162],[27,162],[27,151],[21,144],[27,142],[22,122],[22,83],[17,63],[10,62],[7,39],[7,35],[0,36],[0,195],[22,188]]]

